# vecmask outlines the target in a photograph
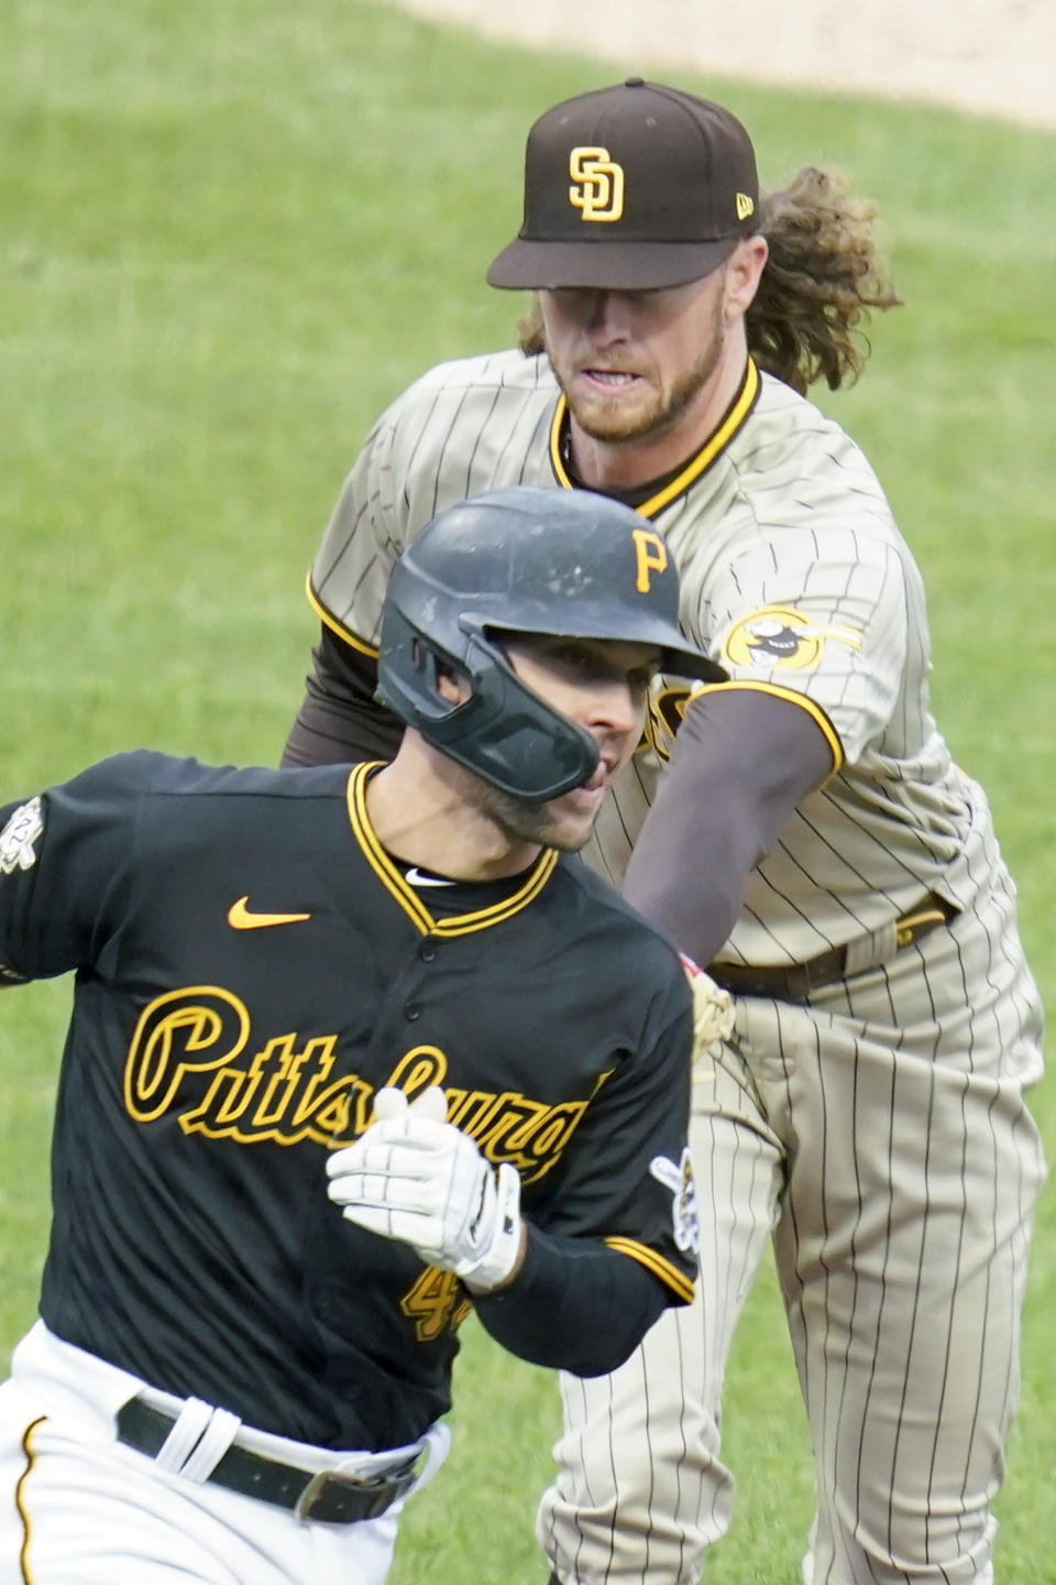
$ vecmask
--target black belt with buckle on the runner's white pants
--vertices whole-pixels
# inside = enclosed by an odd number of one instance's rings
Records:
[[[176,1425],[176,1415],[154,1409],[142,1398],[130,1398],[117,1411],[117,1441],[138,1453],[155,1458]],[[242,1496],[291,1509],[298,1518],[313,1518],[323,1525],[351,1525],[361,1518],[378,1518],[404,1496],[416,1480],[418,1455],[383,1474],[355,1476],[325,1469],[312,1474],[294,1465],[280,1465],[247,1447],[228,1447],[209,1476],[212,1485],[226,1487]]]

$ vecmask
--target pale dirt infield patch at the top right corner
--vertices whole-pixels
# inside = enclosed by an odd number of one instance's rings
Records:
[[[1056,128],[1056,0],[391,0],[496,40],[622,71],[717,76],[945,105]],[[765,54],[763,54],[765,49]]]

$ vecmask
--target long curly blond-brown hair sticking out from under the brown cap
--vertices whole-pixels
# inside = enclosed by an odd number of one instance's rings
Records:
[[[902,301],[877,250],[876,219],[876,203],[852,197],[841,171],[814,165],[762,198],[769,257],[744,319],[747,347],[760,369],[800,395],[819,379],[830,390],[857,380],[871,312]],[[518,344],[526,357],[546,350],[537,300]]]

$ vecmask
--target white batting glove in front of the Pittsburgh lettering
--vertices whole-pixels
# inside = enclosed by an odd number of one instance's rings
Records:
[[[358,1227],[410,1244],[426,1265],[486,1292],[521,1258],[521,1179],[492,1171],[467,1133],[446,1122],[432,1086],[407,1105],[397,1089],[374,1097],[375,1122],[326,1162],[328,1195]]]

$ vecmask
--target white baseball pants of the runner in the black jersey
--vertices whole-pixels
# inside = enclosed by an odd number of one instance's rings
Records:
[[[144,1384],[43,1322],[16,1349],[11,1373],[0,1387],[0,1585],[383,1585],[402,1503],[359,1523],[304,1523],[211,1485],[201,1469],[192,1477],[158,1468],[114,1439],[117,1407]],[[214,1447],[214,1463],[231,1436]],[[334,1453],[261,1431],[241,1436],[285,1463],[321,1471],[342,1461],[361,1476],[415,1452]],[[418,1485],[443,1460],[446,1426],[423,1441],[429,1460]]]

